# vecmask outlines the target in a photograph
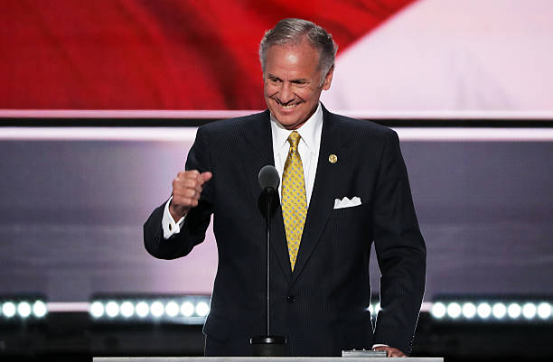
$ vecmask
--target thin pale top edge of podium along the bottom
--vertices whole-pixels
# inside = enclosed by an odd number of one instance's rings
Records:
[[[93,362],[444,362],[444,357],[93,357]]]

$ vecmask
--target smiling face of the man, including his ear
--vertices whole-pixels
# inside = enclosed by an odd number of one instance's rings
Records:
[[[309,43],[273,45],[263,74],[267,107],[286,129],[297,129],[314,114],[321,92],[331,86],[333,69],[321,85],[319,52]]]

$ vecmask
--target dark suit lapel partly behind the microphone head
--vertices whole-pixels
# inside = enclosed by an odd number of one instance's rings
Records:
[[[258,173],[261,168],[267,164],[275,165],[275,156],[273,155],[273,139],[271,135],[271,125],[269,111],[253,115],[250,124],[245,127],[244,149],[242,150],[243,168],[248,175],[249,190],[252,201],[256,208],[258,198],[261,194],[261,188],[258,182]],[[259,212],[259,222],[262,223],[265,230],[265,219]],[[265,233],[264,233],[265,235]],[[263,239],[265,242],[265,239]],[[286,232],[282,218],[282,209],[280,205],[271,218],[271,249],[277,255],[278,264],[289,281],[292,275],[290,259],[288,256],[288,246],[286,245]]]

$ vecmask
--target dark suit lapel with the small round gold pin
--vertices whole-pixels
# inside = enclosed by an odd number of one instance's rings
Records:
[[[305,218],[304,233],[295,262],[292,283],[302,273],[309,257],[313,254],[314,248],[319,242],[323,228],[333,211],[334,197],[333,190],[336,183],[342,181],[339,169],[343,170],[345,156],[345,144],[347,138],[342,137],[341,128],[337,120],[326,108],[323,107],[323,132],[321,134],[321,146],[315,174],[314,188]],[[329,162],[329,155],[338,156],[338,164]]]

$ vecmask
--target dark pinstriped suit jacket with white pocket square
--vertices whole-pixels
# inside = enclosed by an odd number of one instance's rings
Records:
[[[187,170],[213,178],[180,234],[164,240],[163,205],[145,222],[155,257],[187,255],[213,214],[219,252],[206,356],[248,356],[249,338],[265,332],[265,223],[258,210],[258,172],[273,164],[268,110],[198,129]],[[328,156],[338,156],[331,163]],[[361,206],[333,209],[335,199]],[[417,224],[398,136],[381,125],[333,115],[323,133],[294,273],[282,213],[271,221],[271,334],[286,336],[291,356],[340,356],[342,349],[385,343],[410,352],[425,288],[426,247]],[[370,246],[382,274],[376,326],[370,312]]]

